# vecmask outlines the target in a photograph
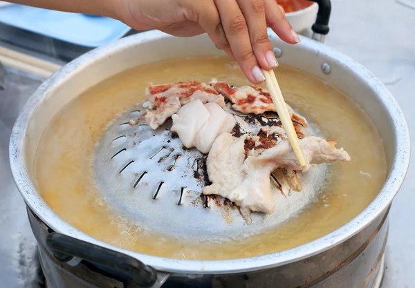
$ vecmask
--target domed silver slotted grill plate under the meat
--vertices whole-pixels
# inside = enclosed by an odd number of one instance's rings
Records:
[[[257,133],[266,122],[278,121],[275,116],[254,119],[229,106],[226,110],[247,132]],[[201,194],[208,183],[207,155],[185,148],[169,130],[171,119],[154,131],[141,119],[144,114],[138,104],[118,117],[100,140],[92,165],[98,190],[111,208],[142,229],[195,240],[241,239],[288,220],[320,192],[324,164],[302,175],[301,192],[291,192],[271,175],[275,213],[252,213],[247,225],[232,202]],[[318,135],[317,129],[310,125],[306,135]]]

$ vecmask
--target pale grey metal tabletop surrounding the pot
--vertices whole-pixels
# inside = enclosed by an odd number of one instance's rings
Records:
[[[402,107],[410,131],[414,134],[415,10],[389,0],[332,2],[331,32],[326,37],[326,45],[353,57],[385,83]],[[311,33],[307,35],[311,37]],[[53,41],[50,44],[53,46]],[[31,45],[22,41],[22,46]],[[50,48],[40,50],[48,52]],[[50,52],[50,55],[53,53]],[[39,85],[39,81],[28,84],[19,77],[15,77],[14,81],[16,86],[35,88]],[[28,265],[32,261],[17,265],[19,258],[27,258],[26,255],[31,258],[31,252],[34,253],[35,249],[26,208],[11,178],[7,155],[12,124],[30,94],[26,89],[14,90],[13,94],[0,92],[0,278],[5,287],[36,287],[35,284],[30,285],[31,273],[21,273],[33,271],[33,267]],[[415,147],[414,143],[412,146]],[[414,164],[414,157],[411,163]],[[382,288],[415,287],[415,235],[412,229],[408,229],[415,227],[414,178],[415,168],[411,165],[391,207]]]

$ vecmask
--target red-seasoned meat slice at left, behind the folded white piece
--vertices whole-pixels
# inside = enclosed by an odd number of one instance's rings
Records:
[[[225,106],[225,98],[205,83],[188,81],[174,84],[149,84],[146,96],[155,110],[147,110],[145,121],[153,129],[162,125],[181,106],[199,99],[203,104],[216,103]]]

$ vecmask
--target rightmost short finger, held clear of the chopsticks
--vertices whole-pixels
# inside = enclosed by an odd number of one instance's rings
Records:
[[[268,26],[270,26],[283,41],[290,44],[297,44],[299,42],[299,37],[285,18],[285,13],[282,12],[284,9],[282,9],[282,7],[280,8],[275,0],[264,0],[264,4]]]

